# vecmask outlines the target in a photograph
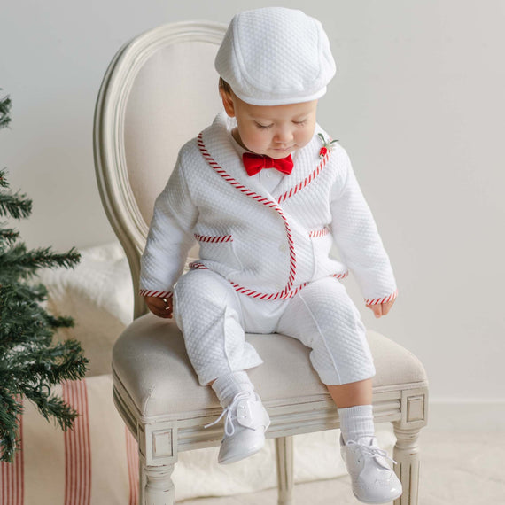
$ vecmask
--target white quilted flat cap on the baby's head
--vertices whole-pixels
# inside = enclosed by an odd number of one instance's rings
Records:
[[[214,64],[237,97],[253,105],[315,100],[335,75],[321,23],[284,7],[236,14]]]

